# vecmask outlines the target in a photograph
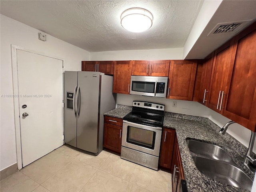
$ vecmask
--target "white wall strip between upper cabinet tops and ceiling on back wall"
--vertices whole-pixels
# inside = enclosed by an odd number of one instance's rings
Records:
[[[183,48],[91,52],[91,61],[183,59]]]

